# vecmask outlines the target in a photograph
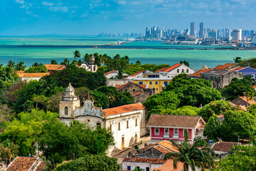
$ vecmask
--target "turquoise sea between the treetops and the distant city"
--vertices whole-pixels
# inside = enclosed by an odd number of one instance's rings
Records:
[[[114,56],[129,56],[130,62],[173,65],[179,60],[186,60],[194,69],[206,65],[210,68],[224,63],[233,63],[233,58],[256,58],[256,51],[235,50],[203,50],[214,46],[183,46],[168,45],[159,41],[131,42],[118,46],[103,46],[102,48],[89,48],[87,46],[100,46],[125,41],[126,38],[116,37],[0,37],[0,63],[6,65],[11,61],[24,61],[26,66],[33,63],[50,63],[55,59],[59,63],[64,58],[73,58],[73,51],[85,53],[107,53]],[[23,45],[31,45],[24,47]],[[220,47],[220,46],[218,46]],[[191,50],[191,48],[194,48]]]

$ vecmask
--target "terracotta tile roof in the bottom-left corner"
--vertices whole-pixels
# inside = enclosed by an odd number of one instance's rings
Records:
[[[36,157],[16,157],[6,171],[28,171],[34,162]]]

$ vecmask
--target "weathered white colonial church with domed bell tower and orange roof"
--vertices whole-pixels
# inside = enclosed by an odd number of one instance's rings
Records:
[[[133,145],[139,142],[141,136],[146,135],[147,113],[142,103],[102,110],[95,107],[91,100],[85,100],[84,105],[80,106],[80,100],[69,84],[60,100],[59,120],[67,125],[78,120],[80,123],[88,123],[92,128],[109,128],[115,141],[111,152]]]

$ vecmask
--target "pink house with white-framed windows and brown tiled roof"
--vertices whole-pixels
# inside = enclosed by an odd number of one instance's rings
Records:
[[[205,125],[201,116],[152,114],[146,126],[150,129],[149,143],[156,143],[161,140],[184,141],[184,130],[188,130],[188,141],[193,142],[196,136],[203,137]]]

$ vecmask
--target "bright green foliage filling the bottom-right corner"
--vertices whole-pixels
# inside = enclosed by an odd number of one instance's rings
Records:
[[[256,146],[238,145],[233,147],[233,152],[216,163],[213,171],[252,171],[256,170]]]

